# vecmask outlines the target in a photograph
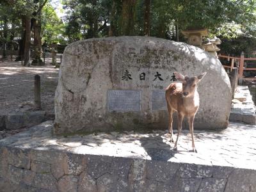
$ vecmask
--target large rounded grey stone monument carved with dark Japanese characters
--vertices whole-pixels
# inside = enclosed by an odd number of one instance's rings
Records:
[[[81,40],[63,54],[54,134],[167,129],[164,90],[173,72],[200,82],[195,129],[228,125],[231,88],[220,61],[192,45],[146,36]],[[175,127],[174,127],[175,128]]]

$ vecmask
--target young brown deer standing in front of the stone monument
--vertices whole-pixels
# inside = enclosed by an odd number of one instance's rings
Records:
[[[197,152],[194,141],[194,127],[193,122],[196,112],[199,107],[199,94],[197,92],[197,83],[199,83],[205,76],[206,72],[197,77],[188,77],[175,72],[174,75],[177,80],[182,83],[172,83],[166,88],[165,98],[167,102],[167,108],[169,112],[169,133],[171,134],[171,140],[173,142],[172,122],[173,113],[177,111],[178,116],[178,135],[175,141],[173,150],[177,150],[177,143],[179,134],[182,129],[182,120],[184,116],[188,118],[189,131],[192,136],[192,150]]]

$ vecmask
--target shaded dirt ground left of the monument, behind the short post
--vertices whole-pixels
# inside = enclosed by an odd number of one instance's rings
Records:
[[[32,108],[34,100],[34,76],[41,77],[42,109],[54,113],[54,93],[58,84],[58,68],[22,67],[21,62],[0,62],[0,115]]]

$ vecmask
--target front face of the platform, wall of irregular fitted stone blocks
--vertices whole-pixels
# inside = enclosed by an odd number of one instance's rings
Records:
[[[43,149],[43,148],[42,148]],[[256,171],[0,147],[0,191],[255,191]]]

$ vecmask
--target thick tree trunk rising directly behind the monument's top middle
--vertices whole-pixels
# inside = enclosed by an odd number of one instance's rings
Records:
[[[134,35],[135,0],[122,1],[121,35]]]

